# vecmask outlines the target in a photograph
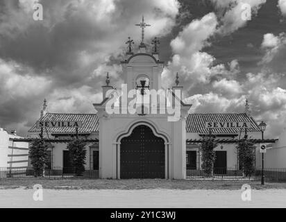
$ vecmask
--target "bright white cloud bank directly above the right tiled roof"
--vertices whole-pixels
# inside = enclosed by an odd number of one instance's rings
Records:
[[[267,137],[277,137],[286,123],[286,89],[278,87],[283,75],[247,74],[243,83],[233,80],[214,81],[212,91],[185,99],[192,112],[244,112],[246,98],[256,121],[267,123]],[[235,93],[233,93],[233,90]]]

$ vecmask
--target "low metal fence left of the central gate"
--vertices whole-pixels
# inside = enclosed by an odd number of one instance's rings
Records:
[[[53,167],[51,169],[44,169],[38,178],[75,178],[75,169]],[[34,178],[35,173],[33,168],[29,167],[0,167],[0,178]],[[99,170],[85,169],[81,173],[81,178],[99,178]]]

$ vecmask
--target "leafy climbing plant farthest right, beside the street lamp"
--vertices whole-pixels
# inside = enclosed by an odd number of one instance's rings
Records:
[[[239,162],[242,164],[244,176],[252,176],[255,169],[255,146],[249,140],[244,139],[237,144]]]

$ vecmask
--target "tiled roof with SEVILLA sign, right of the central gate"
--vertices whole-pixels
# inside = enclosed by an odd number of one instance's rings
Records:
[[[253,117],[249,117],[246,113],[222,113],[222,114],[189,114],[186,122],[187,133],[200,133],[208,134],[210,131],[205,128],[205,122],[218,121],[218,122],[251,122],[251,128],[247,130],[249,132],[258,132],[258,124]],[[215,128],[212,129],[214,134],[235,134],[239,133],[238,128]]]

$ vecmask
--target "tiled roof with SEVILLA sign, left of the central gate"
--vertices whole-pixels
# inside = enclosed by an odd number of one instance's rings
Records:
[[[47,113],[40,121],[82,121],[83,126],[78,128],[78,133],[92,133],[99,131],[99,119],[96,114],[60,114]],[[40,132],[35,125],[28,132]],[[75,133],[74,128],[47,128],[51,133]]]

